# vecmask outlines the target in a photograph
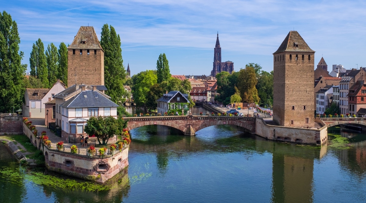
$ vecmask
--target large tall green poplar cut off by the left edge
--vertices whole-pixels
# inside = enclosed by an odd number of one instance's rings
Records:
[[[23,80],[27,66],[22,65],[24,53],[19,51],[18,25],[11,15],[0,14],[0,112],[19,107],[25,92]]]

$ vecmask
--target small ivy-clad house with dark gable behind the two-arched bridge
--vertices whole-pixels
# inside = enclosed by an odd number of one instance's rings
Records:
[[[180,91],[170,91],[163,94],[157,100],[158,114],[163,115],[171,109],[182,109],[182,106],[175,105],[175,103],[190,103],[188,100],[188,94],[182,94]],[[187,104],[183,104],[183,108],[187,108]]]

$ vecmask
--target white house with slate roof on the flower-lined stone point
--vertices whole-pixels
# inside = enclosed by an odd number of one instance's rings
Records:
[[[61,139],[79,138],[86,135],[84,126],[91,116],[113,116],[117,118],[118,105],[97,86],[72,85],[55,95],[56,124],[61,127]]]

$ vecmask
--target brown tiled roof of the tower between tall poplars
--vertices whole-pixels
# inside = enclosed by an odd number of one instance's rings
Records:
[[[67,49],[102,49],[93,26],[81,26]]]

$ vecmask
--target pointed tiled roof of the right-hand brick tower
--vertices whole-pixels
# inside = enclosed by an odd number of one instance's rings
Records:
[[[280,47],[273,54],[281,53],[283,51],[301,51],[301,52],[315,52],[310,49],[304,39],[297,31],[290,31]]]

